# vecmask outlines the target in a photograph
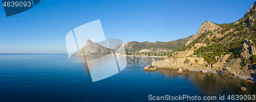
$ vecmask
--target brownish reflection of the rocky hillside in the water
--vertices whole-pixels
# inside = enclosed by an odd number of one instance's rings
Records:
[[[194,87],[205,95],[219,96],[219,95],[229,95],[229,92],[238,94],[238,95],[255,95],[256,86],[252,83],[245,82],[242,79],[223,79],[219,74],[215,73],[206,73],[203,74],[198,71],[184,71],[182,74],[177,74],[178,70],[168,70],[168,69],[158,69],[156,72],[160,72],[164,75],[172,75],[175,77],[183,77],[184,80],[192,81]],[[149,72],[149,71],[148,71]],[[246,91],[240,91],[240,87],[246,87]],[[232,93],[233,94],[233,93]],[[232,95],[231,94],[231,95]],[[236,95],[235,94],[235,95]]]

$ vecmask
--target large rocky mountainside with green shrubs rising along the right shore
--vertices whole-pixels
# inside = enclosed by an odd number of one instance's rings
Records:
[[[238,21],[223,24],[205,21],[185,46],[178,48],[170,58],[190,59],[188,67],[217,70],[221,75],[256,77],[254,19],[256,19],[256,2]],[[197,62],[191,59],[193,57],[203,58],[203,66],[197,65]]]

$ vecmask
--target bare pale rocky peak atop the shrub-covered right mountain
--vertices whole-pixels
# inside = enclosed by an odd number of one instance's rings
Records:
[[[186,42],[185,46],[187,46],[193,40],[197,39],[202,33],[207,33],[208,31],[213,31],[215,29],[220,30],[221,28],[219,27],[219,25],[216,25],[215,23],[212,23],[212,22],[206,20],[201,25],[201,27],[199,28],[198,32],[196,34],[194,34],[193,37]]]

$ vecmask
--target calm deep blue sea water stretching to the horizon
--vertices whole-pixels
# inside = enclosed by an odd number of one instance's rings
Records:
[[[130,61],[135,59],[152,58]],[[0,54],[0,101],[148,101],[148,95],[217,96],[216,101],[225,95],[227,101],[227,95],[256,93],[254,84],[238,79],[195,71],[143,71],[143,67],[127,66],[92,82],[89,68],[71,62],[67,54]],[[240,91],[241,86],[247,90]]]

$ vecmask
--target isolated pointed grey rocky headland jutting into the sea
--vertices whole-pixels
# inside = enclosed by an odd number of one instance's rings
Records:
[[[77,53],[76,56],[105,56],[112,52],[112,50],[101,46],[89,39],[84,41],[83,48]]]

